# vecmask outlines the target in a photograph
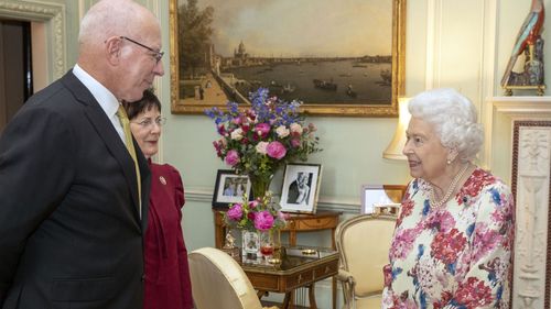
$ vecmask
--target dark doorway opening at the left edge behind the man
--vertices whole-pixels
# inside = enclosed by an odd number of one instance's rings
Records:
[[[33,93],[31,23],[0,19],[0,133]]]

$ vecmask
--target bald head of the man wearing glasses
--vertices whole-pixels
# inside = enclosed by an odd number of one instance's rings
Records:
[[[119,100],[137,101],[164,74],[158,19],[131,0],[101,0],[80,22],[78,65]]]

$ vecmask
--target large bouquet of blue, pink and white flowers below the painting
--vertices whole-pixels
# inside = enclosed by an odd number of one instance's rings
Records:
[[[304,125],[304,117],[299,113],[301,102],[270,97],[266,88],[251,92],[249,99],[251,106],[241,110],[236,102],[228,102],[227,111],[213,108],[205,113],[222,135],[213,142],[216,154],[237,174],[249,176],[257,198],[268,190],[280,166],[306,161],[307,155],[321,150],[315,125]]]

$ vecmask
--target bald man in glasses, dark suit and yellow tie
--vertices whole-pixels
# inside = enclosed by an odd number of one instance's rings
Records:
[[[142,308],[150,172],[119,102],[162,67],[156,18],[129,0],[86,13],[75,67],[0,137],[0,307]]]

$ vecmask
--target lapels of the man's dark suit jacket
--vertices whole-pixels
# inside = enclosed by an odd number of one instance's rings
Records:
[[[136,178],[136,173],[134,173],[134,167],[133,167],[133,159],[128,153],[127,147],[125,146],[125,143],[120,140],[120,136],[117,134],[117,131],[112,126],[111,121],[107,118],[106,113],[99,106],[99,103],[96,101],[91,92],[86,88],[78,78],[73,75],[72,71],[68,71],[64,78],[62,79],[63,84],[66,85],[66,87],[69,89],[69,91],[73,92],[75,98],[83,102],[85,104],[85,113],[90,123],[94,125],[96,131],[98,132],[98,135],[104,140],[107,148],[109,152],[112,154],[112,156],[117,159],[119,163],[122,174],[125,175],[125,178],[127,179],[127,185],[130,189],[131,197],[132,197],[132,203],[133,203],[133,213],[136,216],[136,219],[140,220],[138,209],[139,209],[139,202],[138,202],[138,186],[137,186],[137,178]],[[134,146],[137,150],[139,150],[139,146],[137,145],[134,141]],[[149,179],[149,168],[147,166],[147,163],[143,164],[144,158],[143,154],[140,152],[139,155],[141,163],[139,164],[140,167],[140,174],[141,176],[145,176]],[[143,167],[145,165],[145,167]],[[145,168],[145,169],[143,169]],[[144,172],[142,172],[144,170]],[[144,175],[145,174],[145,175]],[[143,178],[142,178],[142,188],[148,188],[143,187]],[[145,190],[149,191],[149,190]],[[142,202],[143,206],[143,202]],[[143,211],[143,209],[142,209]]]

